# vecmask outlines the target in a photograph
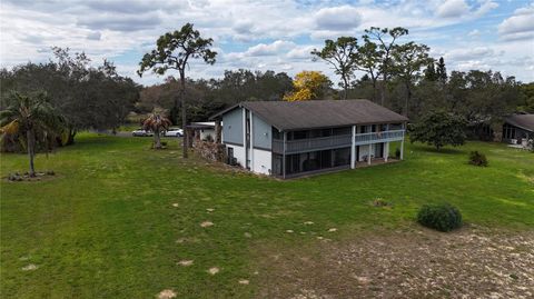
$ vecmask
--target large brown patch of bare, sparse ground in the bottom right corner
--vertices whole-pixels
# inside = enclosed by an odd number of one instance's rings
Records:
[[[534,296],[534,231],[414,229],[273,251],[261,253],[261,298]]]

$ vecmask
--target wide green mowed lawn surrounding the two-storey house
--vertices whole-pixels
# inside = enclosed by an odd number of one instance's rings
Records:
[[[279,181],[182,160],[176,139],[154,151],[150,140],[81,134],[38,157],[38,169],[57,172],[51,180],[2,179],[2,298],[155,298],[164,289],[249,298],[261,245],[403,229],[425,202],[448,201],[468,223],[534,228],[534,155],[504,144],[442,152],[406,144],[403,162]],[[486,153],[490,167],[467,165],[471,150]],[[1,156],[2,177],[26,169],[26,156]],[[376,198],[393,208],[369,205]],[[37,269],[22,270],[28,265]]]

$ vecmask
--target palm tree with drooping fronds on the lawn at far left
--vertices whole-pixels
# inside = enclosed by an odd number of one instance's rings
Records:
[[[26,149],[30,160],[30,177],[36,176],[33,158],[36,156],[36,141],[47,144],[62,126],[62,118],[56,112],[48,101],[44,92],[20,94],[13,92],[8,98],[8,107],[0,112],[0,132],[19,134],[26,141]]]

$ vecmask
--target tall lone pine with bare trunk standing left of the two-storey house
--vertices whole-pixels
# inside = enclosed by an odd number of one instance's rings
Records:
[[[157,48],[142,57],[137,73],[142,76],[147,70],[152,70],[158,74],[164,74],[169,69],[177,70],[180,76],[180,99],[181,99],[181,127],[187,127],[187,106],[186,106],[186,68],[189,67],[190,59],[204,59],[208,64],[215,63],[217,52],[211,51],[214,40],[200,37],[200,32],[192,28],[191,23],[186,23],[179,31],[167,32],[159,37]],[[177,120],[178,99],[171,110],[172,121]],[[184,158],[187,158],[188,134],[184,138]]]

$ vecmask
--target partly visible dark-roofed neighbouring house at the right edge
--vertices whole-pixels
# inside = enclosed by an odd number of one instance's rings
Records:
[[[513,114],[504,120],[504,142],[526,146],[531,139],[534,139],[534,114]]]

